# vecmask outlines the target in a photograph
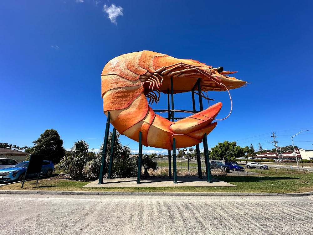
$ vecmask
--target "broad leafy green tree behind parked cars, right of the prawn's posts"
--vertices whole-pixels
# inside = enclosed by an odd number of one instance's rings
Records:
[[[218,160],[224,159],[225,162],[228,162],[243,157],[244,150],[244,148],[237,146],[235,141],[228,142],[225,140],[223,143],[218,143],[218,145],[211,149],[210,158]]]

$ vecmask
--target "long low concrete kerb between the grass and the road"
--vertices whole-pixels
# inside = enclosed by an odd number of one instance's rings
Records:
[[[150,195],[150,196],[311,196],[313,191],[305,193],[217,193],[217,192],[95,192],[95,191],[33,191],[0,190],[0,194],[60,194],[60,195]]]

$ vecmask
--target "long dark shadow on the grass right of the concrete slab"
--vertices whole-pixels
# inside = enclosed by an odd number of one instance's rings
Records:
[[[300,180],[296,177],[272,177],[272,176],[216,176],[215,179],[225,182],[264,182],[270,180]]]

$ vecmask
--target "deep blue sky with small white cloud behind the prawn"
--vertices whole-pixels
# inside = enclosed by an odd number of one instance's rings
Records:
[[[251,83],[230,91],[233,112],[209,134],[210,148],[228,140],[272,149],[271,132],[286,146],[309,129],[294,142],[313,149],[312,9],[311,1],[0,1],[0,142],[33,146],[53,128],[65,149],[80,139],[99,149],[104,65],[152,50],[223,66]],[[227,116],[228,94],[208,95],[210,105],[223,103],[218,118]],[[174,99],[175,109],[192,108],[190,93]],[[152,105],[166,107],[166,95]],[[125,136],[121,143],[138,151]]]

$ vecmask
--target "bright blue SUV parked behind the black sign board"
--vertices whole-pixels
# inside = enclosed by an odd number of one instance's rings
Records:
[[[0,182],[23,180],[28,166],[28,161],[20,162],[12,167],[0,169]],[[41,167],[40,175],[51,175],[54,171],[54,164],[50,161],[44,161]],[[38,175],[28,175],[28,177],[37,177]]]

